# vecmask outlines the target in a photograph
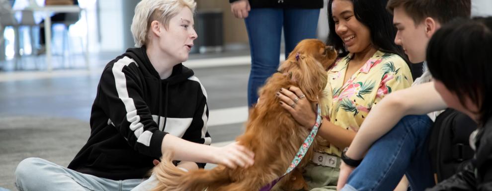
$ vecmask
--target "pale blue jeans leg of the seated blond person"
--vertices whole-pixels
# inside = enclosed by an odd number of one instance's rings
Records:
[[[15,170],[15,186],[19,191],[130,191],[143,181],[99,178],[40,158],[24,159]]]

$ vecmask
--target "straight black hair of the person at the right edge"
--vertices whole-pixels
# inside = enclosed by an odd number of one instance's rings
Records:
[[[466,97],[477,105],[482,125],[492,117],[492,17],[444,25],[429,41],[427,65],[462,105]]]

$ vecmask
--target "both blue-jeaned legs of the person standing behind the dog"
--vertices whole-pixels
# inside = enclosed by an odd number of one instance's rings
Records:
[[[316,38],[319,15],[320,9],[252,8],[249,11],[245,19],[251,52],[247,92],[249,107],[258,99],[258,88],[277,71],[282,26],[287,58],[299,41]]]

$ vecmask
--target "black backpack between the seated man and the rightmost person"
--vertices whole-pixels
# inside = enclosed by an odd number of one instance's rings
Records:
[[[468,115],[454,109],[439,114],[428,137],[429,155],[436,183],[461,171],[474,156],[470,147],[470,134],[477,123]]]

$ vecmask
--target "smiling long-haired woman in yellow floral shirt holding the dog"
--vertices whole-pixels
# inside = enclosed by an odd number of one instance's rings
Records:
[[[401,47],[393,42],[396,29],[386,11],[387,0],[329,0],[328,45],[339,58],[328,70],[328,110],[318,134],[330,145],[316,153],[304,178],[310,189],[335,190],[341,150],[352,141],[371,107],[391,92],[410,87],[412,77]],[[305,128],[316,114],[296,87],[277,94],[280,104]],[[402,177],[400,177],[402,178]]]

